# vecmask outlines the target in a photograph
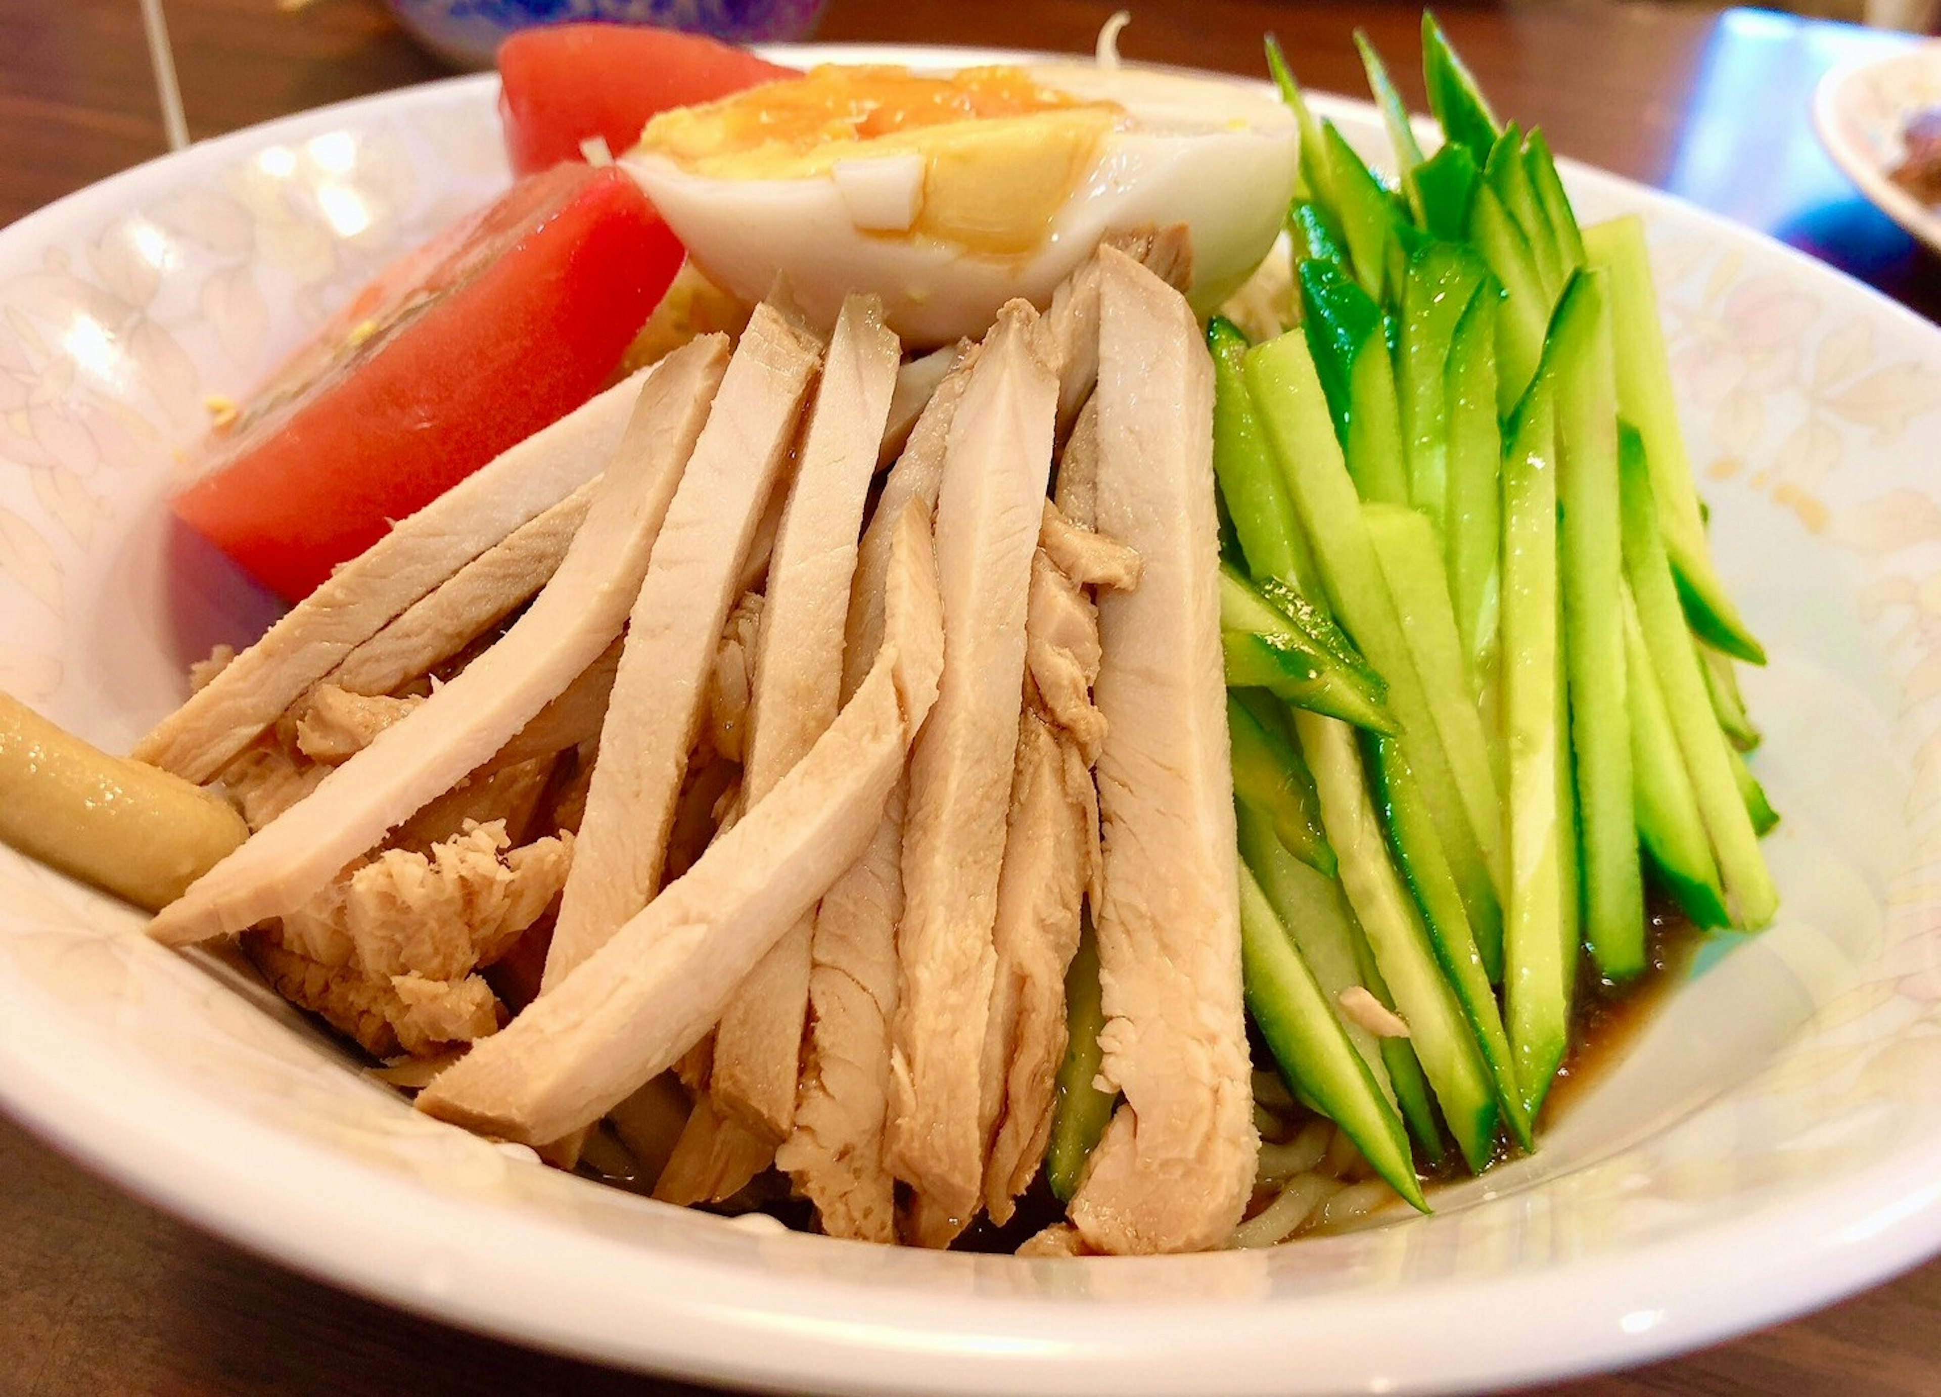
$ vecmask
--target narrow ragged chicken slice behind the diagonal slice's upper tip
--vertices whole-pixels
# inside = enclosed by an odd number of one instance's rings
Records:
[[[974,351],[972,351],[974,353]],[[916,504],[928,516],[943,481],[951,419],[970,355],[938,386],[910,431],[856,553],[842,650],[842,697],[854,695],[883,638],[891,524]],[[897,924],[903,918],[903,811],[899,778],[870,848],[823,894],[809,945],[809,1030],[796,1129],[776,1164],[815,1203],[823,1232],[895,1242],[895,1180],[883,1164],[889,1102],[889,1032],[897,1017]]]

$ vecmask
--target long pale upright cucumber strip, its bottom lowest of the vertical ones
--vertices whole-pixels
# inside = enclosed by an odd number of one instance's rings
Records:
[[[1543,380],[1518,409],[1502,460],[1502,728],[1508,747],[1510,896],[1502,991],[1510,1056],[1535,1120],[1570,1048],[1576,860],[1559,796],[1570,788],[1557,609],[1557,415]]]

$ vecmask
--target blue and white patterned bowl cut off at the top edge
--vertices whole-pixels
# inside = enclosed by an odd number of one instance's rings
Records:
[[[411,37],[458,68],[491,68],[518,29],[602,19],[707,33],[728,43],[806,39],[825,0],[390,0]]]

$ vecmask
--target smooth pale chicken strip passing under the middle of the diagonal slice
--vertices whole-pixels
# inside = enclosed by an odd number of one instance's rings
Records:
[[[899,355],[873,297],[842,303],[769,567],[741,776],[745,805],[802,761],[842,704],[842,629]],[[796,1116],[811,927],[813,916],[806,916],[774,945],[714,1034],[712,1094],[771,1149]]]

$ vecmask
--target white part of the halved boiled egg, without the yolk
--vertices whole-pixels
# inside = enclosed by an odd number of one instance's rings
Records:
[[[809,316],[833,322],[842,297],[873,291],[912,345],[980,336],[1011,297],[1048,305],[1102,237],[1184,223],[1190,299],[1217,307],[1273,244],[1295,186],[1297,130],[1281,103],[1207,78],[1093,64],[1040,64],[1044,87],[1126,109],[1027,254],[988,254],[901,237],[918,215],[924,161],[860,155],[806,179],[720,179],[637,151],[641,182],[710,279],[747,301],[778,281]]]

